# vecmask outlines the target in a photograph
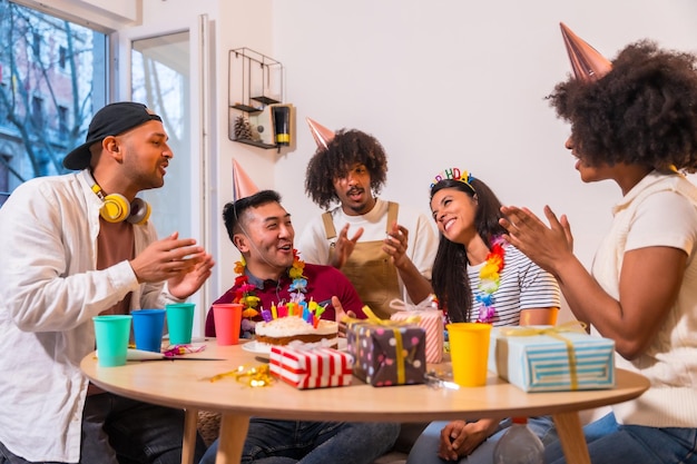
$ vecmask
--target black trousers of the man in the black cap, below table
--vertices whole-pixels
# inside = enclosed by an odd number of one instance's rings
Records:
[[[183,438],[181,409],[110,393],[90,395],[82,412],[80,464],[180,464]],[[205,450],[198,436],[195,460]],[[29,461],[11,454],[0,443],[0,464],[29,464]]]

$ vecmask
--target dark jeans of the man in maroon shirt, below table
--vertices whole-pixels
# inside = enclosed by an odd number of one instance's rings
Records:
[[[386,453],[400,424],[278,421],[252,417],[242,463],[369,464]],[[214,464],[216,440],[199,464]]]

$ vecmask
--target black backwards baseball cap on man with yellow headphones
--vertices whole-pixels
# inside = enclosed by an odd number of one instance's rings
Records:
[[[109,136],[118,136],[147,121],[160,121],[161,118],[143,103],[119,101],[101,108],[87,129],[87,139],[63,158],[68,169],[80,170],[89,166],[91,154],[89,147]]]

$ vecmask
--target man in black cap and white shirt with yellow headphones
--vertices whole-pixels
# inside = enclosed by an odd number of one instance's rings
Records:
[[[171,157],[159,116],[108,105],[63,160],[79,172],[29,180],[0,209],[0,463],[180,462],[181,411],[105,393],[79,368],[94,316],[183,302],[210,275],[210,255],[158,240],[136,198]]]

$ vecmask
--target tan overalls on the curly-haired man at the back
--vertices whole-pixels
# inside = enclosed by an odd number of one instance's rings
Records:
[[[389,203],[387,224],[385,234],[396,221],[400,206],[396,203]],[[332,220],[332,214],[322,215],[326,238],[336,238],[336,228]],[[341,272],[351,280],[359,296],[373,313],[381,319],[389,319],[390,302],[393,298],[401,298],[400,284],[396,268],[390,261],[390,255],[382,250],[383,240],[359,241],[353,248],[353,253],[344,263]],[[334,241],[330,246],[330,260],[334,254]]]

